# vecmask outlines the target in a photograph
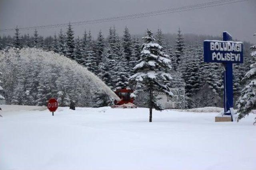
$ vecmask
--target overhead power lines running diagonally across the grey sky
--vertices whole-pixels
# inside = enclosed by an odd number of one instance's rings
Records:
[[[234,4],[238,2],[245,2],[248,0],[218,0],[214,2],[207,2],[202,4],[195,4],[190,6],[182,6],[178,8],[168,8],[165,10],[157,10],[152,12],[144,12],[139,14],[130,14],[125,16],[117,16],[112,18],[102,18],[96,20],[87,20],[87,21],[78,21],[78,22],[70,22],[70,25],[86,25],[86,24],[93,24],[93,23],[103,23],[103,22],[110,22],[110,21],[120,21],[120,20],[128,20],[128,19],[136,19],[136,18],[144,18],[149,16],[158,16],[164,14],[171,14],[177,12],[186,12],[191,10],[198,10],[203,8],[210,8],[214,6],[223,6],[226,4]],[[20,30],[30,30],[30,29],[44,29],[44,28],[54,28],[54,27],[63,27],[67,26],[69,23],[60,23],[60,24],[51,24],[51,25],[40,25],[40,26],[32,26],[32,27],[22,27],[19,28]],[[7,32],[7,31],[15,31],[14,28],[10,29],[0,29],[0,32]]]

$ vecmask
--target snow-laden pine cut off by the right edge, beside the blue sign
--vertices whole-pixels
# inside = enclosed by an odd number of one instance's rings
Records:
[[[256,36],[256,33],[254,34]],[[250,47],[252,50],[251,57],[254,62],[250,66],[250,70],[245,74],[242,81],[246,82],[246,86],[242,89],[241,95],[236,102],[238,121],[248,115],[252,109],[256,109],[256,45]],[[256,125],[256,117],[254,121]]]

